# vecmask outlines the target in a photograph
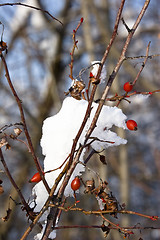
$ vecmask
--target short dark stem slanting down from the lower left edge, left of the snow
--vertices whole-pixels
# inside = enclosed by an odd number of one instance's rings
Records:
[[[8,166],[7,166],[7,164],[6,164],[5,160],[4,160],[1,148],[0,148],[0,158],[1,158],[1,162],[2,162],[2,164],[4,166],[5,172],[6,172],[7,176],[8,176],[8,178],[9,178],[10,182],[12,183],[13,187],[17,191],[17,193],[18,193],[18,195],[19,195],[19,197],[21,199],[21,202],[22,202],[23,206],[25,207],[25,210],[27,211],[27,213],[30,216],[30,218],[33,219],[33,216],[31,215],[32,211],[31,211],[30,207],[28,206],[27,202],[25,201],[25,199],[24,199],[24,197],[22,195],[21,190],[17,186],[16,182],[14,181],[14,179],[13,179],[13,177],[12,177],[12,175],[11,175],[9,169],[8,169]]]

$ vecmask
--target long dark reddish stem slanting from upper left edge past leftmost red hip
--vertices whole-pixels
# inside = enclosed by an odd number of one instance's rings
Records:
[[[28,145],[29,145],[29,148],[30,148],[30,151],[31,151],[33,160],[34,160],[35,165],[36,165],[36,167],[37,167],[37,170],[38,170],[38,172],[39,172],[39,174],[40,174],[40,176],[41,176],[41,178],[42,178],[42,180],[43,180],[43,183],[44,183],[44,185],[45,185],[45,187],[46,187],[46,190],[47,190],[47,192],[49,193],[49,192],[50,192],[50,188],[49,188],[49,186],[48,186],[48,184],[47,184],[47,182],[46,182],[46,180],[45,180],[45,178],[44,178],[41,165],[40,165],[40,163],[39,163],[39,161],[38,161],[38,158],[36,157],[36,154],[35,154],[35,151],[34,151],[34,148],[33,148],[33,144],[32,144],[32,141],[31,141],[31,137],[30,137],[29,132],[28,132],[28,129],[27,129],[26,120],[25,120],[25,116],[24,116],[24,112],[23,112],[23,107],[22,107],[22,102],[21,102],[21,100],[19,99],[18,94],[17,94],[17,92],[16,92],[16,90],[15,90],[13,84],[12,84],[12,81],[11,81],[11,78],[10,78],[10,74],[9,74],[9,71],[8,71],[8,67],[7,67],[7,63],[6,63],[6,60],[5,60],[5,58],[4,58],[4,56],[3,56],[2,53],[1,53],[0,57],[1,57],[1,59],[2,59],[4,68],[5,68],[5,72],[6,72],[6,75],[5,75],[5,76],[6,76],[6,78],[7,78],[8,84],[9,84],[9,86],[10,86],[10,89],[11,89],[11,91],[12,91],[14,97],[15,97],[15,100],[16,100],[17,105],[18,105],[18,108],[19,108],[19,112],[20,112],[20,116],[21,116],[21,121],[22,121],[22,123],[23,123],[24,133],[25,133],[25,135],[26,135],[26,138],[27,138],[27,141],[28,141]]]

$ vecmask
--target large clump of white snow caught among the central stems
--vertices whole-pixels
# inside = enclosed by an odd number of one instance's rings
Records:
[[[67,97],[63,101],[61,110],[56,115],[49,117],[44,121],[41,139],[42,153],[45,156],[44,172],[58,168],[69,156],[73,140],[82,124],[87,106],[88,102],[86,100],[77,101],[72,97]],[[97,103],[92,104],[90,118],[88,119],[87,124],[79,138],[77,146],[79,146],[79,144],[84,144],[85,135],[90,127],[97,107]],[[111,130],[112,126],[126,129],[126,118],[127,117],[123,114],[121,109],[117,107],[103,106],[96,128],[91,135],[92,138],[96,137],[103,141],[101,142],[96,140],[92,142],[92,148],[97,151],[101,151],[102,149],[106,149],[110,146],[126,144],[127,141],[125,139],[120,138]],[[90,141],[92,141],[92,139],[88,140],[88,142]],[[104,141],[112,141],[114,143],[112,144]],[[84,154],[85,150],[83,150],[79,159],[82,162],[84,160]],[[50,187],[53,186],[55,179],[61,171],[61,169],[58,169],[45,174],[45,178]],[[73,190],[70,187],[71,181],[75,178],[75,176],[81,175],[84,171],[85,167],[82,164],[78,164],[65,189],[65,196],[73,196]],[[32,194],[36,196],[37,206],[35,211],[40,211],[48,197],[48,193],[42,181],[35,185]],[[46,216],[47,212],[42,216],[41,220],[44,221]]]

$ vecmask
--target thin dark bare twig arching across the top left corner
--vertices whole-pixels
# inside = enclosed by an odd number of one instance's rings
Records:
[[[48,11],[43,10],[43,9],[41,9],[41,8],[38,8],[38,7],[34,7],[34,6],[32,6],[32,5],[29,5],[29,4],[20,3],[20,2],[18,2],[18,3],[1,3],[1,4],[0,4],[0,7],[4,7],[4,6],[16,6],[16,5],[23,6],[23,7],[28,7],[28,8],[32,8],[32,9],[35,9],[35,10],[44,12],[44,13],[46,13],[47,15],[49,15],[53,20],[56,20],[57,22],[59,22],[60,24],[63,25],[63,23],[62,23],[59,19],[53,17],[53,15],[50,14]]]

